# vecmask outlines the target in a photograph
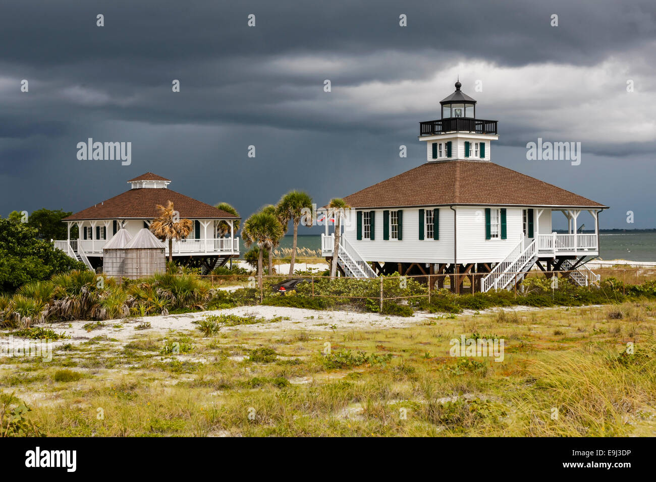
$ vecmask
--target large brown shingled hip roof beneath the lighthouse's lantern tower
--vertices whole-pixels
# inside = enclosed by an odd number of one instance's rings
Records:
[[[344,200],[354,208],[439,205],[519,205],[606,208],[491,162],[429,162]]]

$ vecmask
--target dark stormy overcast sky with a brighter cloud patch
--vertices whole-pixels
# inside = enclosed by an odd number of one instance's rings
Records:
[[[656,227],[653,0],[0,5],[3,216],[80,211],[147,171],[243,217],[291,189],[323,205],[424,162],[418,123],[459,75],[499,121],[493,162],[609,205],[602,228]],[[78,160],[90,137],[132,142],[131,165]],[[581,142],[581,164],[528,161],[537,138]]]

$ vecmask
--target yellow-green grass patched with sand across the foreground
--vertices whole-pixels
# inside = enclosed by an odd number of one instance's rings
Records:
[[[136,331],[71,340],[50,363],[0,358],[0,392],[30,401],[26,419],[48,436],[656,435],[650,300],[402,329],[220,320],[209,336]],[[504,360],[450,357],[461,334],[504,338]]]

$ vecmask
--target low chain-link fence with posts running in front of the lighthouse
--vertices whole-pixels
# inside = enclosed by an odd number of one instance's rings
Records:
[[[454,295],[480,294],[503,298],[546,298],[567,302],[608,300],[609,290],[627,294],[627,287],[656,280],[656,268],[602,268],[528,273],[457,272],[431,275],[389,275],[370,279],[295,275],[206,275],[215,296],[232,304],[268,304],[325,310],[407,314],[408,310],[440,305]],[[597,300],[597,298],[599,298]]]

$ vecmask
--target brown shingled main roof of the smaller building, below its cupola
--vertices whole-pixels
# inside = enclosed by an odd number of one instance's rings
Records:
[[[162,178],[163,179],[163,178]],[[165,188],[131,189],[117,196],[102,201],[95,206],[76,212],[64,221],[81,221],[94,219],[154,219],[157,218],[156,205],[173,203],[180,218],[192,219],[238,219],[229,212],[201,203],[184,194]]]

